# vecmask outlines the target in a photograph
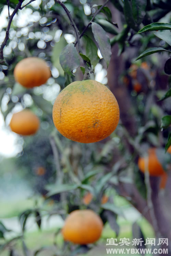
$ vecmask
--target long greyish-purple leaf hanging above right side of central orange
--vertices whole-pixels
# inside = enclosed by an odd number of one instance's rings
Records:
[[[98,44],[102,57],[106,61],[107,68],[110,62],[111,57],[111,46],[110,46],[110,39],[104,29],[95,22],[92,22],[92,32],[94,38]]]

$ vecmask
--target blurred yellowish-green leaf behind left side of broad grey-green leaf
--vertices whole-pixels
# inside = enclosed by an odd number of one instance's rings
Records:
[[[67,45],[67,42],[62,35],[59,42],[55,43],[55,46],[52,48],[52,63],[58,69],[60,75],[64,75],[64,70],[60,64],[60,54],[64,47]]]

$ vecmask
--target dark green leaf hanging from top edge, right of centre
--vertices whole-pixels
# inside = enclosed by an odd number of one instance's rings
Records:
[[[132,0],[132,14],[137,25],[143,21],[146,5],[146,0]]]

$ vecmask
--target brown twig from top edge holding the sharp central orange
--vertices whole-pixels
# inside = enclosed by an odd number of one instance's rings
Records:
[[[60,4],[62,6],[62,8],[64,9],[64,11],[66,12],[66,14],[67,14],[67,16],[70,20],[71,26],[73,26],[75,34],[76,34],[77,43],[78,43],[78,52],[83,53],[82,49],[81,49],[81,43],[80,43],[80,36],[79,36],[80,32],[79,32],[79,30],[78,30],[78,28],[77,28],[77,26],[76,26],[76,24],[73,20],[73,17],[71,16],[70,12],[68,11],[65,4],[61,0],[55,0],[55,2]],[[83,60],[83,62],[84,62],[84,66],[85,66],[85,73],[84,73],[84,78],[83,79],[86,79],[87,75],[89,75],[89,68],[88,68],[87,62],[84,61],[84,60]]]

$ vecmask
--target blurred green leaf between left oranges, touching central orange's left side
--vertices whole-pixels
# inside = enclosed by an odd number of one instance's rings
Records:
[[[34,103],[41,109],[43,112],[52,115],[52,103],[48,100],[43,99],[42,95],[31,95]]]

